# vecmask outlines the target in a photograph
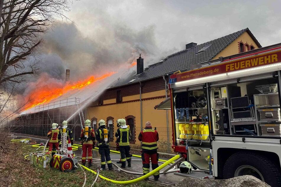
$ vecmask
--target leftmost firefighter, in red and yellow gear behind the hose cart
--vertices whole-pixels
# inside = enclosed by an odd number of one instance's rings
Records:
[[[49,151],[47,154],[52,152],[53,146],[55,146],[56,150],[59,150],[59,139],[61,139],[61,134],[59,133],[58,124],[53,123],[51,130],[48,132],[47,137],[50,138],[48,145],[49,145]],[[55,154],[55,152],[52,152],[52,156]]]

